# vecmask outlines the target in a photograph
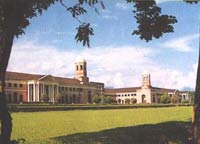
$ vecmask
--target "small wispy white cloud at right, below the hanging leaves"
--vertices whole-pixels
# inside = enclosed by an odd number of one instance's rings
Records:
[[[193,40],[199,37],[198,34],[184,36],[180,38],[175,38],[169,41],[166,41],[163,46],[166,48],[171,48],[180,52],[190,52],[192,51],[191,43]]]

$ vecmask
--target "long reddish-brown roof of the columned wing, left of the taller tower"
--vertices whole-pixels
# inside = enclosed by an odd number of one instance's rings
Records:
[[[51,76],[51,75],[47,75]],[[39,80],[43,79],[45,75],[38,74],[27,74],[27,73],[19,73],[19,72],[6,72],[6,80]],[[63,78],[63,77],[55,77],[52,76],[59,84],[71,84],[71,85],[80,85],[80,81],[75,78]]]

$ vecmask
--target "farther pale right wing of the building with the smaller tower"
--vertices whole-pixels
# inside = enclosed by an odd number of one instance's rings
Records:
[[[105,95],[113,97],[118,104],[130,104],[132,99],[136,99],[137,103],[159,103],[163,94],[168,94],[170,97],[178,96],[179,103],[189,100],[188,91],[153,87],[149,73],[142,75],[140,87],[105,89]]]

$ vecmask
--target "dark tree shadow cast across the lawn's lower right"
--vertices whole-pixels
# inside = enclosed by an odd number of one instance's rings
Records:
[[[189,144],[191,123],[171,121],[52,138],[61,144]]]

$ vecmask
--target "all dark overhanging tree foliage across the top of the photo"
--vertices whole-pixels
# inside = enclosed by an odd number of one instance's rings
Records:
[[[125,0],[133,5],[133,13],[138,28],[132,32],[146,41],[160,38],[164,33],[173,32],[173,24],[177,22],[171,15],[162,15],[161,8],[154,0]],[[195,1],[195,0],[193,0]],[[55,2],[59,2],[67,12],[70,12],[80,26],[77,27],[75,39],[83,46],[90,46],[90,36],[94,35],[90,23],[82,22],[78,17],[86,14],[88,5],[98,13],[98,6],[105,9],[102,0],[74,0],[74,5],[68,6],[67,0],[1,0],[0,1],[0,31],[9,28],[16,37],[24,34],[24,29],[30,24],[30,19],[41,15],[44,10]],[[192,1],[190,1],[192,2]]]

